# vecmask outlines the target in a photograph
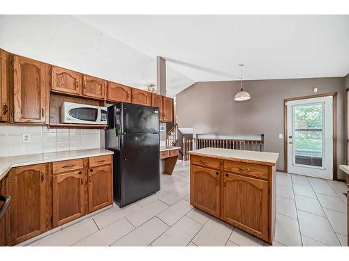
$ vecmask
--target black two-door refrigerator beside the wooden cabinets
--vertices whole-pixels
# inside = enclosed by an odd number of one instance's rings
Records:
[[[160,190],[158,108],[119,102],[107,110],[114,202],[124,207]]]

